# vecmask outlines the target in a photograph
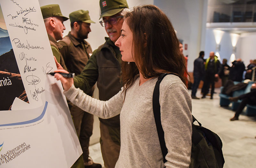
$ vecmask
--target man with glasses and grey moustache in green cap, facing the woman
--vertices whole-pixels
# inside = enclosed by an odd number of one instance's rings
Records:
[[[74,77],[74,85],[89,93],[97,82],[99,99],[105,101],[122,87],[122,55],[115,42],[121,36],[123,15],[128,10],[128,4],[126,0],[100,0],[100,10],[100,24],[105,27],[108,37],[93,51],[82,73]],[[119,115],[100,119],[100,145],[105,167],[114,168],[120,152]]]

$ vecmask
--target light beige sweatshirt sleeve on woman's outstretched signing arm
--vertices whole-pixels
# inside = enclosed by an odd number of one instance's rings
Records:
[[[117,116],[120,114],[123,107],[122,90],[108,101],[101,101],[92,98],[85,94],[81,89],[76,88],[74,84],[68,91],[64,91],[63,93],[68,100],[74,103],[77,107],[103,119]]]

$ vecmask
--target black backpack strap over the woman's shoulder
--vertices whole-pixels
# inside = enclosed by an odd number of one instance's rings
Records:
[[[176,75],[173,73],[169,73],[172,75]],[[156,82],[156,86],[153,92],[153,112],[154,112],[154,117],[155,117],[155,122],[156,122],[156,129],[157,129],[157,134],[158,134],[158,138],[159,138],[159,142],[160,142],[160,146],[161,146],[161,150],[162,150],[162,154],[163,154],[163,158],[164,158],[164,163],[167,161],[165,159],[165,156],[167,155],[167,148],[165,146],[165,140],[164,140],[164,130],[161,124],[161,114],[160,114],[160,103],[159,103],[159,86],[161,81],[163,80],[164,76],[168,75],[167,73],[165,74],[161,74],[158,77],[158,80]],[[176,75],[178,76],[178,75]]]

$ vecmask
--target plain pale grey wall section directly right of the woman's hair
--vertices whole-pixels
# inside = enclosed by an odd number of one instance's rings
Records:
[[[194,60],[199,56],[201,45],[205,40],[205,24],[207,15],[207,0],[155,0],[154,4],[162,9],[177,31],[177,37],[188,44],[188,71],[193,71]]]

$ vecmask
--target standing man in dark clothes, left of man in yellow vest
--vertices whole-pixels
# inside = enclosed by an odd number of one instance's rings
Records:
[[[194,76],[194,83],[192,85],[191,98],[199,99],[198,97],[196,97],[196,91],[200,81],[204,77],[204,51],[201,51],[199,53],[199,57],[194,61],[193,76]]]

